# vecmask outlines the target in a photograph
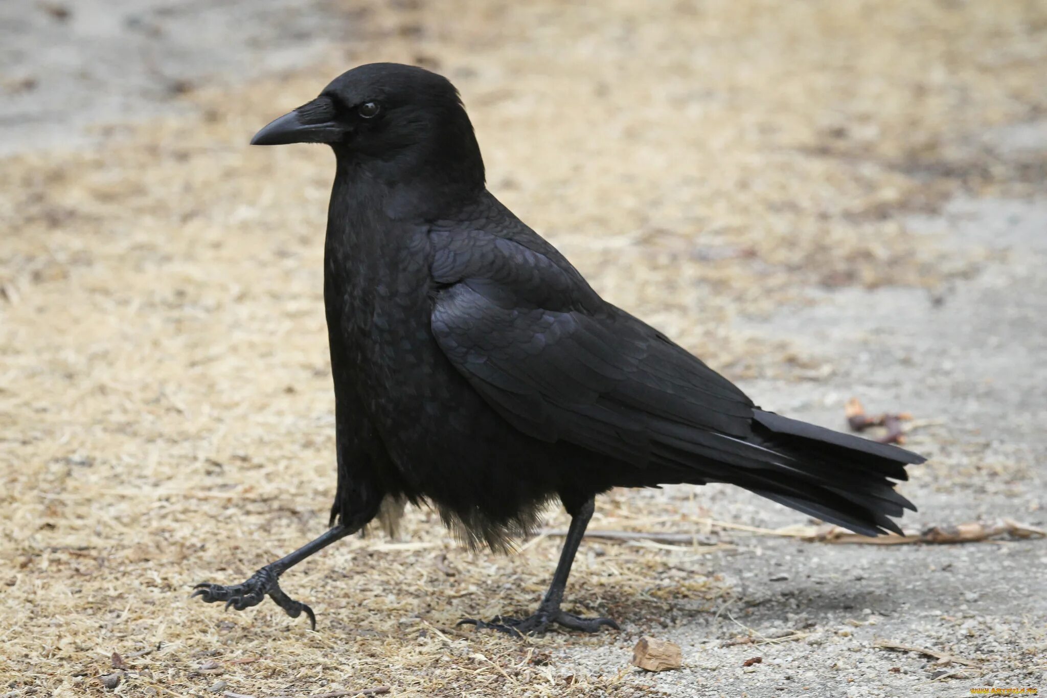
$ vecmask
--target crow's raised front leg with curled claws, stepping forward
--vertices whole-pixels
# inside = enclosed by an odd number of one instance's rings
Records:
[[[316,615],[313,609],[309,608],[300,601],[295,601],[284,593],[280,588],[277,580],[285,571],[298,564],[314,553],[318,553],[331,543],[341,540],[353,533],[356,528],[338,524],[330,528],[316,540],[310,541],[287,557],[281,558],[276,562],[270,563],[251,575],[243,584],[223,586],[221,584],[197,584],[194,596],[200,596],[208,604],[225,602],[225,607],[230,606],[238,611],[251,606],[258,606],[269,595],[276,605],[287,611],[292,618],[302,615],[303,612],[309,616],[309,624],[316,630]]]

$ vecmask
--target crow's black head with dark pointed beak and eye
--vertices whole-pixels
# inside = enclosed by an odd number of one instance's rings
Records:
[[[400,181],[424,173],[484,182],[480,147],[458,90],[415,66],[372,63],[342,73],[251,143],[328,143],[339,161]]]

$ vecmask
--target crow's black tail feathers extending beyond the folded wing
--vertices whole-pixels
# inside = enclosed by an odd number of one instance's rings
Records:
[[[753,419],[754,441],[785,457],[736,485],[867,536],[900,534],[888,517],[916,511],[892,480],[909,479],[906,466],[922,456],[760,409]]]

